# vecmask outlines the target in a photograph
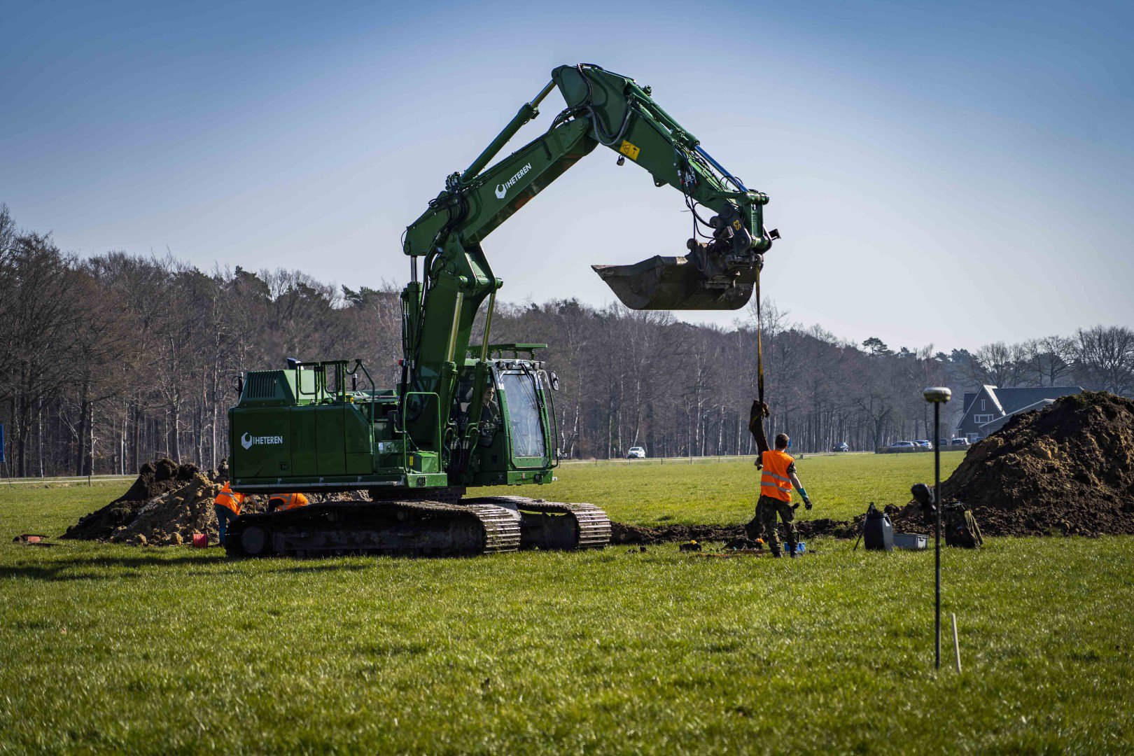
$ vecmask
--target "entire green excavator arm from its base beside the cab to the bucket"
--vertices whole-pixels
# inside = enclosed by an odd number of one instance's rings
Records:
[[[566,108],[548,130],[489,165],[539,116],[553,88]],[[593,65],[560,66],[464,172],[446,179],[445,189],[406,229],[411,283],[403,292],[404,391],[435,392],[438,406],[449,406],[476,313],[490,298],[491,323],[502,283],[481,241],[599,145],[617,152],[619,164],[629,160],[644,168],[657,186],[680,192],[695,219],[687,255],[593,266],[619,299],[634,309],[736,309],[748,301],[762,255],[778,238],[763,226],[768,196],[748,190],[713,160],[653,101],[650,87]],[[709,214],[704,209],[711,211],[709,219],[702,218]],[[488,328],[482,360],[486,348]]]

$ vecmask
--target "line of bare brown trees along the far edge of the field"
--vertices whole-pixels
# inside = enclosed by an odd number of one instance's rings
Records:
[[[299,271],[214,267],[121,252],[81,258],[50,233],[20,229],[0,204],[0,423],[14,476],[129,473],[169,456],[203,468],[228,455],[226,413],[245,369],[361,358],[393,387],[398,287],[333,287]],[[492,341],[536,341],[559,376],[564,457],[747,455],[756,392],[756,317],[689,324],[575,299],[497,305]],[[925,385],[960,393],[1060,385],[1134,393],[1134,332],[1081,329],[970,352],[890,349],[804,328],[764,303],[770,428],[793,449],[873,449],[931,438]]]

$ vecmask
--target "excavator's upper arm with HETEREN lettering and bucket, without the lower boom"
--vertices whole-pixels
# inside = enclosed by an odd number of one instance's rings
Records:
[[[519,128],[539,114],[539,104],[556,87],[567,107],[548,131],[485,170]],[[445,254],[445,243],[450,238],[464,246],[479,244],[600,144],[618,152],[620,164],[628,158],[644,168],[657,186],[678,189],[694,213],[695,229],[705,231],[704,241],[699,241],[695,232],[686,244],[691,253],[687,258],[654,257],[632,266],[595,266],[619,298],[634,309],[744,306],[761,262],[759,255],[778,236],[763,227],[768,195],[750,192],[713,160],[696,137],[653,101],[650,87],[591,65],[560,66],[551,73],[551,82],[519,109],[464,173],[447,179],[446,189],[407,228],[405,253],[425,257],[429,263],[432,255]],[[714,214],[704,221],[697,205]],[[633,271],[663,265],[674,269],[670,273],[683,275],[662,277],[655,291],[645,291],[641,286],[627,288],[646,282],[627,280]],[[667,280],[677,279],[685,286],[667,286]]]

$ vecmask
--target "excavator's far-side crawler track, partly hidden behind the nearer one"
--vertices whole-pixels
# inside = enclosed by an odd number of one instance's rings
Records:
[[[610,518],[594,504],[566,504],[526,496],[485,496],[465,501],[517,512],[522,549],[576,551],[603,549],[610,543]]]

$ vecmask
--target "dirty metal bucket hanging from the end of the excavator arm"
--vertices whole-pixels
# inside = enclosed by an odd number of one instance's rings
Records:
[[[591,267],[631,309],[739,309],[756,280],[755,269],[709,279],[688,257],[661,255]]]

